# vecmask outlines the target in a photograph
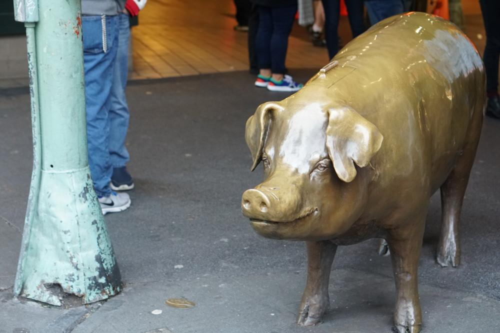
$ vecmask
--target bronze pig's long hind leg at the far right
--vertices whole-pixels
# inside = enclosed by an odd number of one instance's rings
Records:
[[[476,112],[470,124],[471,130],[468,133],[463,153],[458,157],[453,170],[441,185],[442,222],[436,260],[442,267],[449,265],[456,267],[460,264],[460,212],[479,141],[481,123],[482,113]]]

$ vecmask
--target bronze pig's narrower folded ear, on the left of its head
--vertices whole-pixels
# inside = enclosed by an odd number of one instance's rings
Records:
[[[255,113],[246,120],[245,140],[253,158],[251,171],[257,167],[262,157],[262,149],[271,122],[271,110],[282,108],[277,102],[266,102],[260,104]]]

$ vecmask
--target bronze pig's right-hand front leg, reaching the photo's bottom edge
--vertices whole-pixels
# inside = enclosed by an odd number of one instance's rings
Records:
[[[426,210],[425,210],[426,211]],[[396,283],[396,307],[394,330],[398,333],[418,333],[422,314],[418,299],[418,257],[422,245],[424,218],[415,224],[388,232],[394,280]]]

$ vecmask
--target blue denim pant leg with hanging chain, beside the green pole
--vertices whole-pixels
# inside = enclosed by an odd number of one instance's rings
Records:
[[[108,113],[118,43],[117,17],[82,16],[88,164],[99,196],[111,193]]]

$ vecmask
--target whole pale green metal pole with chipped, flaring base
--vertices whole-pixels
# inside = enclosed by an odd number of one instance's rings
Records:
[[[14,293],[53,305],[59,287],[82,303],[108,298],[122,283],[88,168],[80,1],[14,0],[14,10],[26,22],[33,132]]]

